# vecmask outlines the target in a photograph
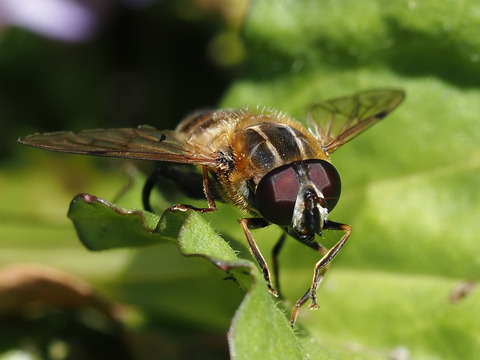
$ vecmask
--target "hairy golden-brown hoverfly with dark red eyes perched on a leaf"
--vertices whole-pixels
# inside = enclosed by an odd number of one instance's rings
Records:
[[[276,111],[216,110],[194,113],[174,131],[143,125],[34,134],[19,141],[68,153],[198,166],[208,207],[175,205],[172,209],[212,212],[216,209],[214,197],[219,197],[218,200],[233,203],[250,214],[251,217],[240,219],[239,224],[273,295],[279,295],[277,257],[287,234],[320,254],[310,287],[293,307],[290,317],[293,325],[299,308],[309,299],[311,309],[318,307],[319,283],[352,231],[350,225],[328,218],[341,188],[340,176],[329,156],[384,118],[403,98],[403,91],[380,89],[320,102],[308,109],[308,129]],[[175,174],[185,178],[182,172]],[[187,192],[193,191],[193,181],[190,183],[188,176],[181,182]],[[144,189],[147,208],[153,183],[150,180]],[[284,230],[272,252],[275,287],[251,233],[252,229],[270,224]],[[315,240],[324,230],[340,230],[344,234],[328,249]]]

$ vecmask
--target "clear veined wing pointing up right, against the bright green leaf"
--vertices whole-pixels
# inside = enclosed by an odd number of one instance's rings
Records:
[[[380,89],[314,104],[308,109],[308,127],[331,154],[383,119],[404,97],[401,90]]]

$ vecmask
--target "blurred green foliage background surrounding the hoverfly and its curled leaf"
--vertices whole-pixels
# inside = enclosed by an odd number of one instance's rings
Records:
[[[174,246],[87,252],[66,218],[68,203],[80,192],[114,199],[127,183],[124,162],[28,149],[16,143],[19,136],[142,123],[172,128],[190,111],[218,105],[260,104],[303,119],[309,103],[379,87],[401,88],[407,98],[332,156],[343,195],[331,218],[354,232],[319,289],[320,310],[300,313],[298,358],[478,357],[478,4],[112,1],[90,4],[95,31],[69,39],[14,26],[18,18],[9,23],[0,4],[0,264],[61,270],[74,277],[60,281],[63,291],[85,281],[122,304],[127,329],[125,340],[98,301],[90,310],[13,311],[26,295],[11,289],[32,290],[32,274],[59,283],[47,269],[14,268],[15,276],[0,278],[5,358],[15,349],[58,359],[227,358],[225,333],[244,295],[223,272],[178,256]],[[135,165],[145,173],[152,167]],[[135,178],[121,200],[129,207],[140,207],[141,173]],[[157,207],[177,199],[159,196]],[[207,220],[241,251],[238,212],[219,210]],[[265,254],[278,234],[255,233]],[[291,304],[317,257],[289,241],[280,260]],[[30,277],[20,276],[24,269]],[[254,315],[261,319],[261,309]],[[264,335],[249,350],[271,340]],[[101,348],[120,354],[82,352]]]

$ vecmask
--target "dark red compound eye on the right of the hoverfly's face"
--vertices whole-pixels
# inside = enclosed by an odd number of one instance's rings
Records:
[[[306,163],[310,179],[322,192],[328,212],[332,211],[342,188],[337,169],[324,160],[307,160]]]

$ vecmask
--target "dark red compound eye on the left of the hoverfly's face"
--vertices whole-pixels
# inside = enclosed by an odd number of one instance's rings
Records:
[[[290,225],[300,185],[291,164],[267,173],[255,193],[257,210],[269,222]]]

